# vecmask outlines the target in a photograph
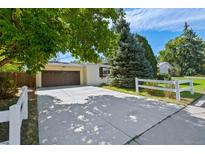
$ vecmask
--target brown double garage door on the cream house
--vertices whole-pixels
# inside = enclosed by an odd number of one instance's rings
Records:
[[[80,85],[79,71],[42,71],[42,86]]]

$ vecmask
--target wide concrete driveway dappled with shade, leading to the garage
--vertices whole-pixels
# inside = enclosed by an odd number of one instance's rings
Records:
[[[181,109],[93,86],[36,93],[40,144],[138,144],[134,137]]]

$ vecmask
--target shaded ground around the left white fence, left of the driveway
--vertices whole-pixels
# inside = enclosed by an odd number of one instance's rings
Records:
[[[16,104],[18,97],[0,100],[0,111],[8,110],[9,106]],[[0,142],[7,141],[9,136],[9,123],[0,123]],[[38,144],[38,117],[37,99],[34,92],[29,92],[28,119],[23,120],[21,127],[21,144]]]

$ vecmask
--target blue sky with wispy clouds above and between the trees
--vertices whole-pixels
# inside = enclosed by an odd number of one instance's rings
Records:
[[[125,9],[132,33],[148,39],[155,54],[169,39],[180,35],[185,22],[205,39],[205,9]],[[70,61],[69,54],[59,55],[60,61]]]

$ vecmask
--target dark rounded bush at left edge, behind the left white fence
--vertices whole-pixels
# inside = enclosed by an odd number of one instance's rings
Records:
[[[18,92],[17,84],[14,80],[0,77],[0,98],[13,97]]]

